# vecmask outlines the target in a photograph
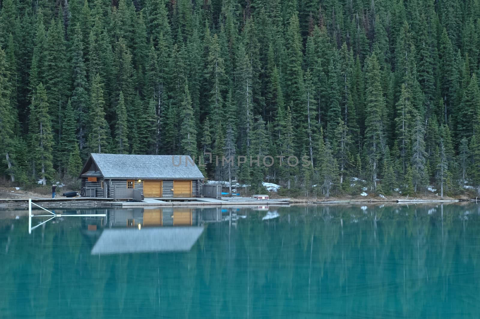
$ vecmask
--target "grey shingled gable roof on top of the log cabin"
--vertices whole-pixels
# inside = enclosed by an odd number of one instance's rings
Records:
[[[88,174],[89,162],[98,166],[104,178],[204,179],[188,155],[90,154],[81,176]]]

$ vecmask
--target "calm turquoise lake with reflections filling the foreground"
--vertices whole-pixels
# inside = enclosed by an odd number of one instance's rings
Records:
[[[480,318],[475,203],[51,210],[107,216],[0,208],[1,319]]]

